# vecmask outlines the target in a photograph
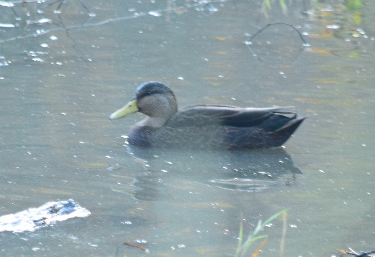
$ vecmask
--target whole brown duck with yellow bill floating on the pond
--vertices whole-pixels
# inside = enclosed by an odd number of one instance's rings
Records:
[[[178,111],[173,91],[164,83],[141,84],[132,100],[110,120],[132,113],[147,117],[130,128],[133,146],[261,149],[282,146],[306,117],[282,111],[288,107],[236,107],[197,104]]]

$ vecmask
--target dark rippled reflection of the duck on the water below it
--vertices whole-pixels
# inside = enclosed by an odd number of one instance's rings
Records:
[[[183,186],[262,192],[292,186],[302,174],[282,148],[228,152],[127,146],[127,152],[141,169],[130,187],[119,186],[115,191],[137,200],[166,200]]]

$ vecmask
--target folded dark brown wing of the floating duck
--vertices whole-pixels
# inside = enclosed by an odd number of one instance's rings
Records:
[[[284,108],[289,107],[240,108],[229,105],[193,105],[178,111],[166,121],[164,126],[199,127],[218,125],[252,127],[264,122],[272,114],[282,114],[283,112],[280,112],[279,110]]]

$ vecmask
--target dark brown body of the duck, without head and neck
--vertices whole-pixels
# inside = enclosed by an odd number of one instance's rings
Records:
[[[154,147],[252,149],[281,146],[304,117],[272,108],[195,105],[157,129],[133,127],[129,143]],[[291,117],[285,116],[288,114]]]

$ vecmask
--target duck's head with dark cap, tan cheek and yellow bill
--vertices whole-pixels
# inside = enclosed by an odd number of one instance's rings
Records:
[[[177,112],[177,102],[174,93],[161,82],[150,81],[143,83],[136,89],[130,102],[111,114],[110,120],[120,119],[136,112],[165,121]]]

